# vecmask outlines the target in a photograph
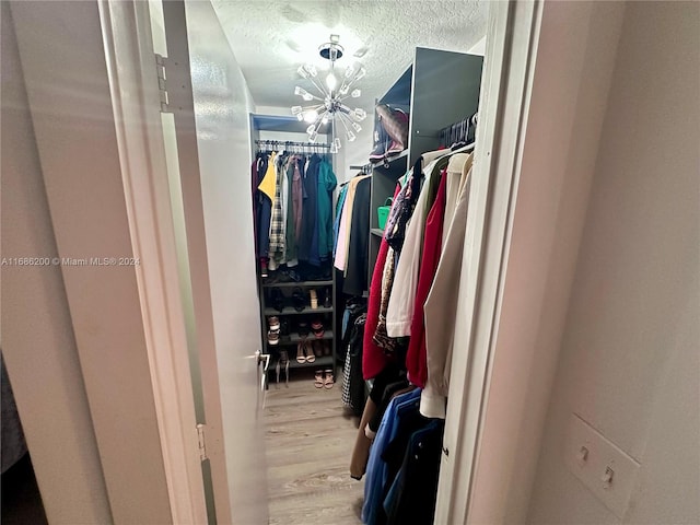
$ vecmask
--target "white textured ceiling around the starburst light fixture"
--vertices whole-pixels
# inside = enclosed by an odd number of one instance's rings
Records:
[[[318,46],[332,33],[346,49],[337,62],[340,72],[354,61],[368,70],[358,84],[362,96],[348,100],[368,113],[411,63],[417,46],[467,51],[486,34],[488,14],[487,2],[474,0],[213,0],[212,4],[256,105],[302,104],[294,86],[312,89],[296,69],[311,62],[326,70],[328,61],[318,56]]]

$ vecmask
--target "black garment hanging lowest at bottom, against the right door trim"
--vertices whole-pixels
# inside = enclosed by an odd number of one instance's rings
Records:
[[[438,499],[444,421],[432,420],[415,432],[400,471],[384,500],[387,525],[432,525]]]

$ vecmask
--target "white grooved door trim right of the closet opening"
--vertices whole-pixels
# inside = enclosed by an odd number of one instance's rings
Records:
[[[541,3],[492,2],[435,523],[467,523]]]

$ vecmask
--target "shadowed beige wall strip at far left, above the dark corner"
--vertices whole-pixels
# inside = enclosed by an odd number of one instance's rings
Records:
[[[0,11],[2,257],[54,258],[58,249],[10,3]],[[2,268],[2,352],[49,523],[110,523],[59,266]]]

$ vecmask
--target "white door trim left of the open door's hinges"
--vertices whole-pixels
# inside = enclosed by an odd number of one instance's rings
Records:
[[[167,490],[177,524],[207,523],[145,2],[98,3]]]

